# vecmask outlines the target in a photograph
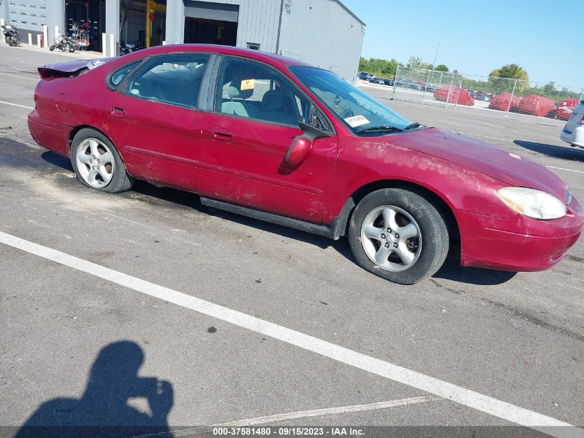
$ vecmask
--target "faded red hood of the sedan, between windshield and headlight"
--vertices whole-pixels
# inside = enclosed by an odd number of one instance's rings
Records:
[[[393,145],[457,163],[503,183],[543,190],[565,199],[567,184],[547,167],[505,149],[441,129],[420,129],[387,137]]]

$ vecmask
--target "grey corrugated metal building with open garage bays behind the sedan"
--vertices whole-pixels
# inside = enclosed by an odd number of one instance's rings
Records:
[[[115,44],[227,44],[294,57],[351,82],[365,31],[339,0],[0,0],[0,17],[24,32],[46,24],[49,42],[55,26],[85,32],[94,51],[102,33]]]

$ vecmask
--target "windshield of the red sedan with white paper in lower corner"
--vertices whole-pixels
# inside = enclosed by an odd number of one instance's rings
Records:
[[[343,78],[317,67],[291,66],[290,71],[308,86],[355,134],[383,134],[412,129],[412,122],[378,102]],[[421,125],[415,124],[419,127]]]

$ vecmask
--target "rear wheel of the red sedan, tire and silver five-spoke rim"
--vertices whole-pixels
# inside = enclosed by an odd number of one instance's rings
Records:
[[[130,190],[134,183],[113,143],[94,129],[81,129],[71,142],[70,159],[77,179],[102,192]]]

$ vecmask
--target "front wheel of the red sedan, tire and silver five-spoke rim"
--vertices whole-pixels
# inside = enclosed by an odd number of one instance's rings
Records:
[[[368,194],[349,224],[352,253],[367,271],[400,284],[433,275],[449,250],[446,223],[431,202],[410,190]]]

